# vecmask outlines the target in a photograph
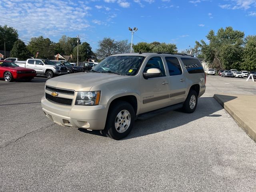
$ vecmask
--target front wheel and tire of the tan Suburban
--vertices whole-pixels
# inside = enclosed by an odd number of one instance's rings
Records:
[[[135,113],[130,103],[116,101],[108,110],[105,134],[115,140],[126,137],[134,126]]]

